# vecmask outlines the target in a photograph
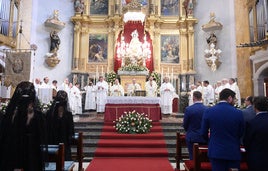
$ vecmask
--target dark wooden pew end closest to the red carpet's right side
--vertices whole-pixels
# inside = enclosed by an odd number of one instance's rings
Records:
[[[185,139],[185,134],[180,133],[177,131],[177,141],[176,141],[176,170],[179,171],[180,168],[180,163],[183,162],[184,160],[189,160],[189,156],[185,153],[182,152],[182,149],[187,149],[186,145],[186,139]]]

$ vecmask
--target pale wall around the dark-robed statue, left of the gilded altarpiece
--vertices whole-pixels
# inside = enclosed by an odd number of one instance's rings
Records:
[[[73,55],[73,24],[71,17],[74,15],[72,0],[33,0],[32,2],[32,26],[31,44],[36,44],[38,49],[34,57],[34,68],[32,77],[43,79],[45,76],[61,83],[71,73]],[[58,50],[58,65],[51,68],[45,63],[45,55],[49,52],[50,36],[49,29],[44,26],[46,19],[53,16],[54,10],[59,10],[59,20],[65,22],[66,26],[58,35],[61,39]]]

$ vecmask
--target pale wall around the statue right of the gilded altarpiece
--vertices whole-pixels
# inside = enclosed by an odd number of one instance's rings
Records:
[[[222,64],[212,72],[205,61],[204,50],[208,49],[206,38],[209,34],[202,30],[202,25],[210,20],[210,13],[214,12],[215,21],[223,25],[222,30],[215,32],[217,47],[222,50],[220,61]],[[202,0],[197,1],[195,17],[198,23],[195,26],[195,70],[198,80],[208,80],[210,84],[222,78],[236,77],[236,44],[235,44],[235,14],[233,0]]]

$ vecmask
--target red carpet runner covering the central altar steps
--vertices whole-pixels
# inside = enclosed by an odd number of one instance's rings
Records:
[[[86,171],[173,171],[159,122],[147,134],[118,134],[105,123]]]

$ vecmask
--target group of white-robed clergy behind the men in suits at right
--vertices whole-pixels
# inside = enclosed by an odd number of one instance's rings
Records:
[[[219,101],[220,92],[225,88],[229,88],[235,92],[235,105],[237,107],[241,107],[240,90],[234,78],[223,78],[222,80],[217,81],[214,85],[210,84],[208,80],[205,80],[203,82],[197,81],[195,84],[190,85],[190,92],[188,96],[189,106],[193,104],[194,91],[199,91],[202,93],[202,101],[204,105],[212,106]]]

